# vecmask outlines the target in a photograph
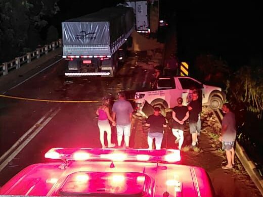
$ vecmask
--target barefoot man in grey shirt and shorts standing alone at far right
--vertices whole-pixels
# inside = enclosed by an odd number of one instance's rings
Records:
[[[222,141],[222,149],[226,150],[228,164],[222,166],[223,169],[232,169],[235,164],[235,150],[234,144],[236,140],[236,120],[235,114],[231,112],[231,107],[228,103],[225,103],[222,107],[225,116],[222,120],[222,130],[219,140]]]

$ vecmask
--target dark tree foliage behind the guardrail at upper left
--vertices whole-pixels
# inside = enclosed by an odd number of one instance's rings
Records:
[[[9,61],[23,53],[26,47],[40,44],[40,31],[48,25],[45,17],[58,11],[58,0],[28,0],[0,2],[0,62]]]

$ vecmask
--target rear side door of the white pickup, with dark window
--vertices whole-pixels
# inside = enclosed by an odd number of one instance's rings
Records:
[[[177,106],[177,98],[182,97],[182,89],[178,89],[175,81],[171,78],[160,78],[157,82],[157,89],[164,92],[164,100],[169,108]]]

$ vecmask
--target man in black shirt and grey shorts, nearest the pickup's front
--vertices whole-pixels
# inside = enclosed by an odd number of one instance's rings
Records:
[[[197,131],[198,129],[198,117],[199,113],[202,111],[202,103],[198,100],[198,92],[193,91],[192,101],[187,106],[189,110],[189,128],[190,133],[192,134],[192,146],[196,146]]]

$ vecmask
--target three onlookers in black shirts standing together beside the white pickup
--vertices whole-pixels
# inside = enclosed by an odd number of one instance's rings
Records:
[[[198,100],[198,91],[193,91],[191,101],[188,106],[183,106],[183,98],[177,98],[178,105],[172,109],[172,134],[176,136],[175,143],[179,143],[178,149],[181,150],[184,142],[184,128],[186,121],[189,120],[190,133],[192,135],[192,146],[195,147],[198,142],[198,135],[201,132],[200,113],[202,111],[202,103]],[[152,141],[155,138],[156,149],[160,149],[163,138],[163,128],[165,128],[166,120],[160,114],[160,108],[154,108],[154,114],[150,115],[146,121],[146,126],[150,126],[148,132],[148,145],[152,149]]]

